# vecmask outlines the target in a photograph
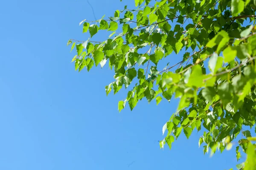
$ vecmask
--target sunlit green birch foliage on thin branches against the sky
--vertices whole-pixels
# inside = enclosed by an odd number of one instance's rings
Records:
[[[242,132],[236,147],[246,152],[250,137],[244,126],[256,121],[256,26],[255,0],[135,0],[137,9],[116,10],[113,17],[95,22],[82,21],[90,38],[99,30],[110,36],[103,42],[69,40],[77,55],[75,69],[87,71],[107,62],[114,70],[114,81],[105,87],[107,95],[123,86],[134,87],[118,103],[121,111],[146,98],[157,105],[172,97],[180,98],[177,112],[163,126],[160,147],[172,142],[183,131],[187,138],[194,129],[204,133],[204,153],[230,149]],[[117,34],[122,28],[122,32]],[[159,68],[163,58],[183,53],[174,65]],[[171,71],[174,70],[174,71]],[[255,129],[256,131],[256,129]],[[227,140],[230,141],[227,143]]]

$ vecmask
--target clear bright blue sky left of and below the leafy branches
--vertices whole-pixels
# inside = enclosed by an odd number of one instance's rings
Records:
[[[97,19],[134,0],[90,0]],[[126,91],[107,97],[108,66],[80,73],[70,63],[70,38],[87,40],[79,22],[94,20],[86,0],[4,0],[0,6],[1,170],[223,170],[235,150],[212,158],[201,134],[184,134],[160,150],[162,127],[177,102],[143,100],[117,111]],[[101,36],[107,36],[103,31]],[[96,36],[94,40],[101,40]]]

